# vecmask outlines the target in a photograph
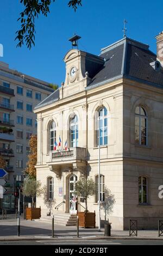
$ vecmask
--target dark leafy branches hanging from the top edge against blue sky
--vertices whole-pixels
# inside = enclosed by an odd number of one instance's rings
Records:
[[[35,19],[39,15],[47,16],[50,13],[50,5],[55,0],[20,0],[24,5],[24,10],[20,13],[18,21],[21,23],[21,29],[16,31],[16,38],[18,40],[18,47],[26,43],[30,49],[35,45]],[[72,7],[76,11],[78,5],[82,6],[82,0],[68,1],[68,7]]]

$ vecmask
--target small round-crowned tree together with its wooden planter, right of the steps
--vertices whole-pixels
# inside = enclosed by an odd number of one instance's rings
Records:
[[[85,211],[77,212],[79,216],[79,227],[95,228],[96,227],[96,214],[87,210],[87,198],[96,193],[96,184],[92,178],[81,178],[75,184],[74,194],[83,197],[85,201]]]

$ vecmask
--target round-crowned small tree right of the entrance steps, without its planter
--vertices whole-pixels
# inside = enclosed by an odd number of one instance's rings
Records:
[[[87,198],[96,193],[96,184],[92,178],[80,178],[75,183],[74,194],[83,197],[85,200],[85,211],[87,212]]]

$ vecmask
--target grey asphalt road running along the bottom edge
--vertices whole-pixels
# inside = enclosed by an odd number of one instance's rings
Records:
[[[60,248],[66,248],[65,245],[84,245],[89,247],[90,245],[163,245],[163,241],[158,240],[83,240],[83,241],[6,241],[0,242],[1,245],[59,245]],[[63,246],[63,247],[62,247]]]

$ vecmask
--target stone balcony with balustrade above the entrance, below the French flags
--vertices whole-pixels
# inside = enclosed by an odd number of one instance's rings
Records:
[[[67,150],[54,150],[49,152],[47,164],[57,177],[60,177],[60,170],[78,170],[86,172],[86,148],[74,147]]]

